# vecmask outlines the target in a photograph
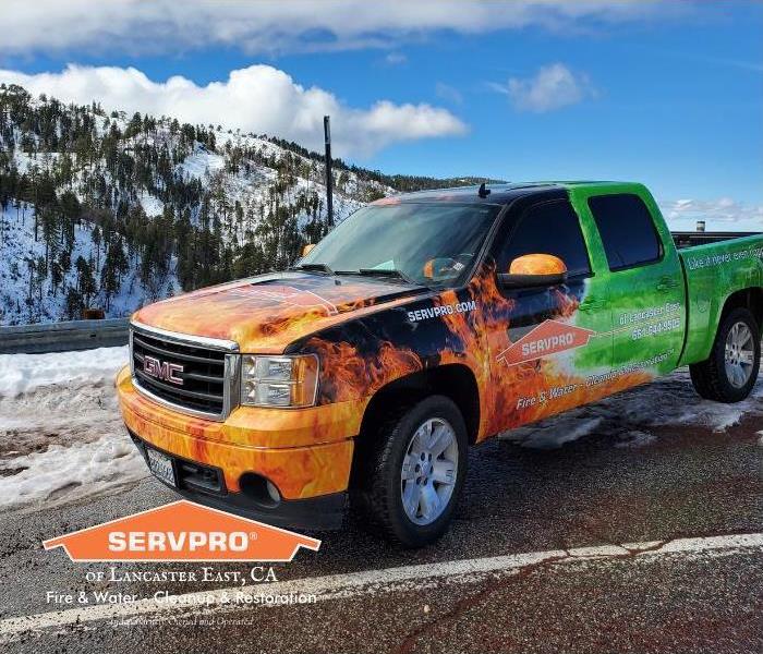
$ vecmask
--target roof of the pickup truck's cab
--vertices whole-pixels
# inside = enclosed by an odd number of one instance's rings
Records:
[[[452,186],[449,189],[433,189],[431,191],[417,191],[393,195],[397,202],[474,202],[480,204],[505,205],[526,195],[559,191],[573,186],[607,186],[622,185],[623,182],[614,181],[547,181],[547,182],[508,182],[501,184],[486,184],[491,192],[487,197],[481,197],[477,193],[480,186]],[[384,202],[384,201],[382,201]]]

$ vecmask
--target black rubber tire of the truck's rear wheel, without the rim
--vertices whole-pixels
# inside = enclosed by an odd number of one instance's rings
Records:
[[[752,374],[743,386],[735,386],[726,373],[726,339],[735,325],[742,323],[752,332],[754,343],[754,358]],[[724,317],[715,335],[713,349],[710,358],[701,363],[689,366],[691,382],[706,400],[731,404],[746,399],[752,391],[752,387],[758,379],[758,372],[761,364],[761,331],[755,318],[749,310],[735,308]]]

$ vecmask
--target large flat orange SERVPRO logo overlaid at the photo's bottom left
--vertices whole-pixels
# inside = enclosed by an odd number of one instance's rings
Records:
[[[290,561],[320,541],[181,499],[43,543],[73,561]]]

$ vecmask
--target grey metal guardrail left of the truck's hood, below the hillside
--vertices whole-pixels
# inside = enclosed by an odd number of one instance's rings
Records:
[[[41,354],[128,344],[128,318],[0,327],[0,354]]]

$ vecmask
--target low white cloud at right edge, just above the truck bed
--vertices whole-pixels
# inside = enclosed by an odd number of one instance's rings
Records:
[[[670,229],[693,231],[698,220],[707,231],[763,232],[763,205],[749,205],[730,197],[718,199],[671,199],[659,203]]]

